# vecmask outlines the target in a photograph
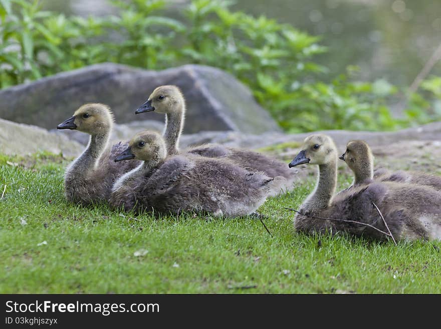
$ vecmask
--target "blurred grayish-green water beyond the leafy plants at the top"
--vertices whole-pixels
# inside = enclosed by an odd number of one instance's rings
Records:
[[[44,3],[66,14],[112,12],[106,0]],[[330,69],[331,76],[357,65],[360,79],[410,85],[441,44],[441,0],[239,0],[233,8],[322,36],[329,51],[316,59]],[[441,62],[431,73],[441,75]]]

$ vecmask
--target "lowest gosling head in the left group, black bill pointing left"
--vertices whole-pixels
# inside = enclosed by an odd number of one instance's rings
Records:
[[[155,132],[147,131],[136,134],[129,142],[129,147],[120,153],[115,162],[136,159],[148,163],[159,163],[167,156],[164,139]]]

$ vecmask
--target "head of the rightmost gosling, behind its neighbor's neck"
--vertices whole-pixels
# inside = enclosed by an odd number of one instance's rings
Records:
[[[365,141],[353,140],[346,145],[346,151],[340,157],[355,173],[372,170],[374,156]],[[370,173],[369,173],[370,174]]]

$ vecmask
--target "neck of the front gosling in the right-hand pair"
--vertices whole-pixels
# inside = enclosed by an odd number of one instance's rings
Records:
[[[337,158],[319,165],[319,177],[314,192],[308,197],[304,208],[323,209],[329,206],[337,186]]]

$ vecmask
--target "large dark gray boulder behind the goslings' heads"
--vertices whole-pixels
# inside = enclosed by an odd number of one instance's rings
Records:
[[[166,84],[177,85],[185,95],[184,133],[280,131],[247,87],[222,70],[198,65],[156,72],[104,63],[59,73],[0,91],[0,117],[53,129],[82,104],[104,103],[112,108],[118,123],[163,122],[163,115],[135,117],[134,111],[156,87]]]

